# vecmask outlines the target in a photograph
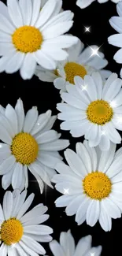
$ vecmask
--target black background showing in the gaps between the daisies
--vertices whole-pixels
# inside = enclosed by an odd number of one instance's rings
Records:
[[[2,2],[6,3],[6,1]],[[78,36],[86,46],[91,44],[102,46],[101,50],[105,54],[105,58],[109,61],[107,69],[119,75],[121,67],[113,61],[113,54],[116,53],[117,48],[107,43],[109,35],[116,33],[109,24],[109,18],[116,16],[116,5],[110,0],[105,4],[98,4],[98,2],[95,1],[86,9],[79,9],[79,7],[76,6],[76,0],[64,0],[63,2],[64,9],[71,9],[75,13],[74,24],[70,32]],[[84,33],[84,26],[91,26],[91,33]],[[38,106],[39,113],[51,109],[54,115],[57,114],[57,102],[61,102],[59,93],[57,89],[54,88],[53,83],[43,83],[36,76],[33,76],[31,80],[24,81],[20,78],[19,72],[13,75],[6,73],[0,74],[0,104],[4,107],[8,103],[15,106],[18,98],[23,100],[25,111],[30,109],[31,106]],[[61,132],[60,121],[56,122],[54,128],[57,132]],[[69,132],[63,131],[62,138],[70,139],[70,148],[72,150],[75,150],[76,142],[83,141],[83,138],[73,139]],[[121,251],[121,219],[113,220],[111,232],[104,232],[99,224],[96,224],[94,228],[91,228],[86,223],[77,226],[75,217],[66,216],[65,208],[55,208],[54,201],[60,196],[60,193],[46,187],[43,195],[40,195],[37,182],[31,175],[29,175],[29,179],[28,195],[31,192],[35,193],[33,206],[39,202],[43,202],[49,207],[48,213],[50,214],[50,219],[46,224],[54,228],[54,239],[58,240],[62,231],[71,229],[76,243],[82,236],[91,234],[93,237],[93,246],[102,245],[102,256],[117,255]],[[9,189],[11,189],[11,187]],[[1,185],[1,202],[4,193],[5,191],[2,189]],[[48,244],[45,243],[44,247],[46,248],[46,254],[50,255]]]

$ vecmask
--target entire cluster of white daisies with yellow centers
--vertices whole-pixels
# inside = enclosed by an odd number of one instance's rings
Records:
[[[95,0],[77,0],[81,9]],[[108,0],[98,0],[99,3]],[[109,20],[118,32],[109,36],[109,44],[120,47],[114,55],[122,63],[122,2],[116,4],[119,17]],[[106,69],[108,61],[96,45],[84,46],[68,34],[74,14],[62,9],[62,0],[0,1],[0,72],[20,71],[23,80],[37,76],[54,83],[61,96],[60,113],[38,112],[33,106],[24,113],[19,98],[15,108],[0,106],[0,175],[6,191],[0,204],[0,255],[39,256],[46,254],[41,242],[48,242],[54,255],[100,256],[102,246],[92,247],[91,236],[75,240],[61,232],[60,243],[52,240],[54,231],[42,224],[48,208],[39,205],[29,210],[34,194],[28,195],[30,172],[43,194],[45,186],[62,195],[56,207],[66,207],[67,216],[75,215],[78,225],[97,222],[105,232],[112,219],[122,214],[122,69],[120,77]],[[87,28],[89,29],[89,28]],[[67,33],[67,34],[66,34]],[[41,83],[41,82],[40,82]],[[53,126],[61,120],[61,130],[72,137],[84,138],[76,152],[66,149]],[[66,149],[66,150],[65,150]],[[59,154],[65,150],[65,160]],[[28,211],[28,212],[27,212]]]

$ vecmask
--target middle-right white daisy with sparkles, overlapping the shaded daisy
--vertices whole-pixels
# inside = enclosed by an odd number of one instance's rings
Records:
[[[75,83],[61,94],[66,103],[57,104],[58,119],[64,121],[61,129],[73,137],[84,135],[90,147],[109,150],[110,141],[121,142],[116,129],[122,131],[122,80],[113,73],[104,84],[99,72],[93,72],[84,80],[76,76]]]

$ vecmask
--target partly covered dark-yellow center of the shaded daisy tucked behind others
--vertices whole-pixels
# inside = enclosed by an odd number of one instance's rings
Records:
[[[75,62],[68,62],[64,69],[66,80],[72,84],[74,84],[74,76],[80,76],[83,78],[85,75],[87,75],[86,69],[82,65]]]

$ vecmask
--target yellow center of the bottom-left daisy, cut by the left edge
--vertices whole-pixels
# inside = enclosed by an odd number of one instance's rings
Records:
[[[15,218],[4,221],[1,226],[0,236],[3,243],[12,245],[18,243],[23,236],[24,228]]]

